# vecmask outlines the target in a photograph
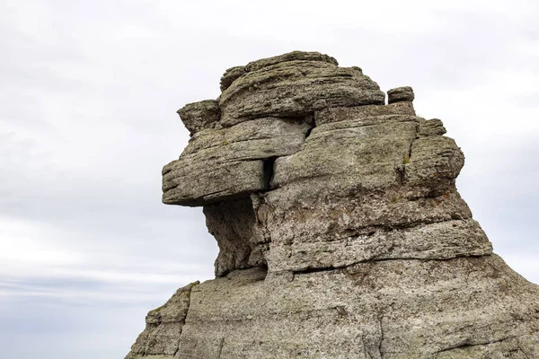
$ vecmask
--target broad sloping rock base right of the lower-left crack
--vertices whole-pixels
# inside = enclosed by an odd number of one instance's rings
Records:
[[[195,287],[176,357],[535,357],[539,292],[496,256],[263,279],[250,269]]]

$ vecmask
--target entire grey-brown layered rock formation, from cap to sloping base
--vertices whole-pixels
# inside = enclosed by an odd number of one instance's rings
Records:
[[[455,188],[464,154],[411,87],[292,52],[179,111],[163,202],[203,206],[216,279],[150,311],[128,359],[539,358],[539,287]]]

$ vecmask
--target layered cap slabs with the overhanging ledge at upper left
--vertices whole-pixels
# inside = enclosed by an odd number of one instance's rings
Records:
[[[240,67],[225,72],[218,101],[178,110],[192,138],[180,159],[163,169],[164,203],[203,206],[270,189],[270,162],[300,150],[318,110],[369,105],[373,113],[415,115],[411,102],[384,109],[384,92],[359,67],[339,67],[317,52],[294,51]],[[270,147],[260,147],[257,136],[243,135],[243,144],[228,141],[249,127],[258,128]],[[208,138],[214,139],[212,149],[195,155]],[[231,152],[237,155],[225,154]]]

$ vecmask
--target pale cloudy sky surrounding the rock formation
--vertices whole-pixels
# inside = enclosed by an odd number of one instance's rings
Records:
[[[0,347],[122,358],[146,312],[213,277],[200,208],[161,203],[225,69],[292,50],[410,85],[466,156],[457,188],[508,265],[539,283],[539,3],[0,3]]]

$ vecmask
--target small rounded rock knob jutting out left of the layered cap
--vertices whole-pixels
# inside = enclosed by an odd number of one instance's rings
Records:
[[[216,100],[206,100],[188,103],[178,109],[181,121],[192,136],[205,128],[213,128],[219,121],[221,110]]]

